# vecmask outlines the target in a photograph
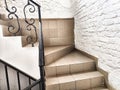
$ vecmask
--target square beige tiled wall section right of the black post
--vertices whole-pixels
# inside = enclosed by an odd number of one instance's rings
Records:
[[[43,36],[46,46],[74,43],[73,19],[43,19]]]

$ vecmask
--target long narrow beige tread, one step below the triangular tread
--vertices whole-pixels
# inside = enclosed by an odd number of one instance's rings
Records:
[[[69,74],[69,75],[57,76],[57,77],[48,77],[46,78],[46,85],[54,85],[54,84],[66,83],[77,80],[97,78],[97,77],[103,77],[103,75],[98,71],[93,71],[87,73],[77,73],[77,74]]]

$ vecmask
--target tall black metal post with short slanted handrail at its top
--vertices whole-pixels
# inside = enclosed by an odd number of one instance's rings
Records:
[[[45,90],[45,60],[44,60],[44,43],[43,43],[43,33],[42,33],[42,20],[41,20],[41,6],[34,2],[33,0],[29,0],[33,4],[38,7],[38,15],[39,15],[39,67],[40,67],[40,76],[41,76],[41,88]]]

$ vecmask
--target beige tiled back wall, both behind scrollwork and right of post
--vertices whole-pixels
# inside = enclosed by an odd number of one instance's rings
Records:
[[[26,22],[23,19],[19,20],[22,30],[22,36],[31,35],[35,38],[34,29],[31,31],[26,30]],[[9,24],[17,27],[16,20],[11,21]],[[42,19],[43,37],[45,46],[56,45],[69,45],[74,43],[74,19]],[[37,33],[39,31],[38,20],[36,19],[35,26]],[[20,34],[20,33],[19,33]],[[19,35],[18,34],[18,35]],[[11,36],[8,31],[4,30],[5,36]]]

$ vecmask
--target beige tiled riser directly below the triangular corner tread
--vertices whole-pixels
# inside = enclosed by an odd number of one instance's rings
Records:
[[[87,62],[73,65],[62,65],[55,67],[45,67],[46,77],[59,76],[65,74],[82,73],[88,71],[95,71],[95,62]]]

